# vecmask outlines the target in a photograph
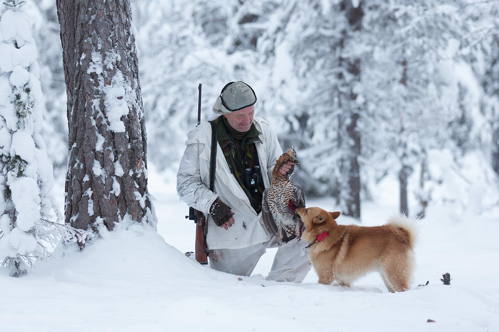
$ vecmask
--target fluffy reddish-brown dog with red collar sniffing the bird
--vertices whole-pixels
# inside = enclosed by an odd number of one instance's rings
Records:
[[[313,243],[310,260],[319,283],[350,284],[378,271],[391,293],[409,289],[414,268],[416,231],[404,216],[392,217],[382,226],[338,225],[339,212],[297,208],[305,224],[302,239]]]

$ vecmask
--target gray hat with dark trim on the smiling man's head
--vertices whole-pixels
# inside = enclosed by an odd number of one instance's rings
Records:
[[[229,114],[245,109],[256,103],[253,89],[244,82],[228,83],[217,98],[213,111],[217,114]]]

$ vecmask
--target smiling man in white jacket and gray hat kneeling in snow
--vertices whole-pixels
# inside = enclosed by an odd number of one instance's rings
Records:
[[[249,276],[266,248],[278,247],[267,280],[301,282],[309,270],[305,241],[298,238],[278,245],[261,220],[261,198],[270,186],[272,171],[282,150],[267,121],[253,117],[256,96],[243,82],[227,84],[213,111],[218,144],[215,192],[210,191],[212,128],[201,123],[188,133],[177,174],[177,192],[184,202],[209,215],[207,244],[210,266]],[[245,181],[245,169],[261,172],[259,180]],[[293,164],[281,166],[282,174]],[[255,172],[252,172],[255,173]],[[257,172],[256,172],[257,173]]]

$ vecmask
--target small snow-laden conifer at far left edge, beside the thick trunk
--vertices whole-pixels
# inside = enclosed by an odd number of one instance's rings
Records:
[[[56,240],[53,231],[59,229],[47,227],[53,173],[39,134],[42,94],[24,2],[5,3],[0,19],[0,264],[12,276],[45,258],[44,241]]]

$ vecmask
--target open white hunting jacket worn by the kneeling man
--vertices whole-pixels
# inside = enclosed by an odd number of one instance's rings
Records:
[[[253,123],[262,134],[262,143],[256,142],[256,150],[262,170],[265,188],[270,186],[272,171],[277,158],[282,154],[279,142],[267,121],[255,116]],[[210,191],[210,154],[212,128],[209,122],[201,123],[188,134],[186,149],[177,173],[177,193],[182,201],[208,215],[208,211],[217,197],[229,205],[235,213],[236,223],[225,230],[215,225],[210,217],[207,245],[209,249],[239,249],[266,242],[271,235],[261,221],[261,213],[256,214],[250,200],[232,175],[222,149],[217,144],[217,166],[215,192]],[[198,158],[199,156],[199,158]],[[267,176],[263,173],[266,170]],[[244,226],[246,226],[246,229]]]

